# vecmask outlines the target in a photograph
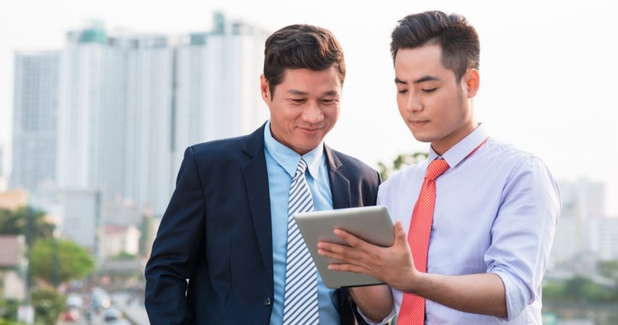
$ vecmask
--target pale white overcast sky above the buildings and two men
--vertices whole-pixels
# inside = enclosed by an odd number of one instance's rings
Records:
[[[213,10],[222,10],[270,31],[292,23],[331,30],[344,47],[348,74],[341,117],[326,141],[373,166],[391,162],[428,144],[412,138],[397,112],[390,33],[405,15],[438,9],[464,14],[480,35],[477,120],[492,136],[543,159],[557,179],[606,183],[608,212],[618,215],[615,1],[357,3],[0,0],[0,144],[11,134],[15,50],[60,49],[66,31],[89,19],[167,35],[209,30]]]

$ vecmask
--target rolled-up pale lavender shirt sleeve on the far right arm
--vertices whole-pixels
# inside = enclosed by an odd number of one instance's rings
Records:
[[[485,254],[487,272],[504,283],[509,321],[541,298],[560,210],[556,181],[540,159],[528,157],[514,168],[502,191]]]

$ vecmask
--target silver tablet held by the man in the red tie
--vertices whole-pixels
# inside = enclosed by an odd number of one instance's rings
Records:
[[[378,205],[294,213],[294,219],[326,287],[338,289],[382,284],[378,279],[366,274],[328,269],[329,263],[336,262],[336,260],[319,255],[318,242],[326,241],[347,245],[332,232],[335,228],[339,228],[371,244],[382,247],[391,246],[395,242],[394,226],[386,207]]]

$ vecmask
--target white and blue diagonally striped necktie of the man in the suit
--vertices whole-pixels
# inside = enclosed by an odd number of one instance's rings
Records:
[[[290,186],[287,216],[286,294],[283,324],[318,324],[318,276],[294,213],[313,211],[313,198],[307,185],[307,163],[300,158]]]

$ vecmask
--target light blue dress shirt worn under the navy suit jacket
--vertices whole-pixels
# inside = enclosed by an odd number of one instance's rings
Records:
[[[287,261],[287,210],[292,178],[301,156],[281,142],[276,141],[270,131],[270,121],[264,128],[264,147],[268,188],[270,192],[271,221],[273,227],[273,277],[274,302],[270,324],[283,323],[283,303],[286,289]],[[331,184],[326,167],[324,144],[302,155],[307,162],[307,184],[313,196],[313,209],[332,210]],[[324,286],[318,273],[318,307],[320,324],[339,324],[337,292]]]

